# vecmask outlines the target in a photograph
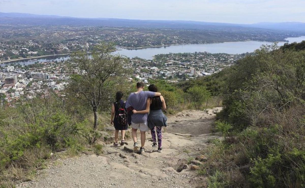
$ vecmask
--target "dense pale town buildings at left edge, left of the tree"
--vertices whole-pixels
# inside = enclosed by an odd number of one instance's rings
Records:
[[[45,62],[29,66],[6,66],[0,72],[2,101],[16,101],[20,96],[35,97],[43,88],[59,93],[71,74],[66,63]]]

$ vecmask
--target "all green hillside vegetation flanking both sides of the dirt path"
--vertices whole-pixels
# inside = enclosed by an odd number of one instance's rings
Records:
[[[302,46],[262,46],[236,65],[199,79],[176,84],[149,80],[159,87],[169,113],[204,109],[221,99],[224,109],[217,113],[215,130],[223,138],[209,141],[202,151],[207,161],[199,169],[209,187],[305,186]],[[113,141],[103,134],[111,101],[117,90],[126,98],[135,82],[126,81],[126,59],[111,55],[112,50],[111,45],[99,46],[92,59],[74,54],[74,74],[63,93],[41,88],[36,98],[0,108],[0,186],[33,179],[55,152],[100,154],[96,140]]]

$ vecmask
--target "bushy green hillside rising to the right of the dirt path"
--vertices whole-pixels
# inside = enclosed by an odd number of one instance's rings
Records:
[[[304,41],[262,46],[218,74],[178,85],[205,84],[224,109],[204,169],[210,187],[305,186]]]

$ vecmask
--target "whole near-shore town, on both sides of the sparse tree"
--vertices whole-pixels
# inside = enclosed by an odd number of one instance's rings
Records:
[[[126,69],[133,69],[129,80],[163,79],[178,82],[210,75],[233,65],[246,54],[211,54],[207,52],[160,54],[154,60],[129,59]],[[71,62],[69,62],[71,63]],[[3,64],[2,64],[3,65]],[[33,98],[39,90],[47,87],[62,94],[69,75],[77,71],[65,60],[34,63],[31,65],[3,66],[0,71],[2,101],[16,101],[20,96]]]

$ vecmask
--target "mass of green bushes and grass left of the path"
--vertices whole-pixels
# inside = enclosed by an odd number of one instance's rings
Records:
[[[51,153],[84,150],[81,133],[88,121],[69,114],[56,95],[46,100],[21,99],[15,107],[0,108],[0,186],[32,178]]]

